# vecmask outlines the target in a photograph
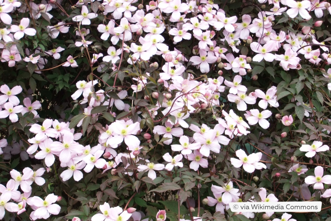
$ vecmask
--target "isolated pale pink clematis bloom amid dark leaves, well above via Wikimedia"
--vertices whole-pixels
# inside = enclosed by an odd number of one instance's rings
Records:
[[[248,173],[253,173],[255,169],[266,169],[266,166],[263,163],[260,163],[260,159],[262,158],[262,153],[252,153],[249,156],[246,155],[245,151],[242,149],[239,149],[236,151],[236,156],[239,158],[231,158],[231,164],[239,168],[243,166],[244,170]]]

